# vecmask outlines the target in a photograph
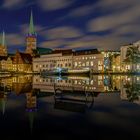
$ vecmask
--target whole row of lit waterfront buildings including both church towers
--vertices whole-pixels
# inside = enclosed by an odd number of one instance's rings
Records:
[[[17,50],[15,54],[10,55],[7,52],[3,32],[0,42],[0,71],[40,73],[62,68],[88,68],[92,73],[140,72],[140,41],[122,46],[120,51],[39,48],[31,12],[26,50],[25,52]]]

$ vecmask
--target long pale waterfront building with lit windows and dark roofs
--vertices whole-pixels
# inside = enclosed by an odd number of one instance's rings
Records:
[[[60,50],[40,58],[33,59],[33,71],[41,72],[56,68],[64,69],[84,69],[88,68],[92,72],[104,71],[104,57],[97,50]]]

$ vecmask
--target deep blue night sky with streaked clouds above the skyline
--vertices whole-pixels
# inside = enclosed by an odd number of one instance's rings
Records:
[[[31,9],[38,47],[119,50],[140,39],[140,0],[0,0],[9,52],[24,51]]]

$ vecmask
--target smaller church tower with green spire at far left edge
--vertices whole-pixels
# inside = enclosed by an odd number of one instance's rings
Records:
[[[7,56],[7,47],[5,42],[5,32],[3,31],[0,42],[0,56]]]

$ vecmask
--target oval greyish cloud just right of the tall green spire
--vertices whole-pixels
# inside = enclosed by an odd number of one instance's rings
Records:
[[[75,27],[72,26],[62,26],[46,31],[48,39],[63,39],[63,38],[76,38],[82,36],[83,33]]]

